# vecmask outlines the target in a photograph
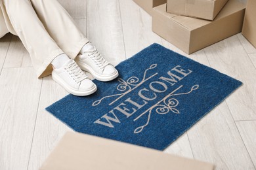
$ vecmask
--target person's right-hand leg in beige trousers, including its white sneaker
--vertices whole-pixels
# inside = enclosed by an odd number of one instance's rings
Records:
[[[113,80],[118,76],[115,67],[103,58],[95,46],[87,43],[89,41],[85,35],[79,31],[72,17],[58,1],[30,1],[51,37],[70,58],[79,63],[81,69],[89,71],[102,81]]]

